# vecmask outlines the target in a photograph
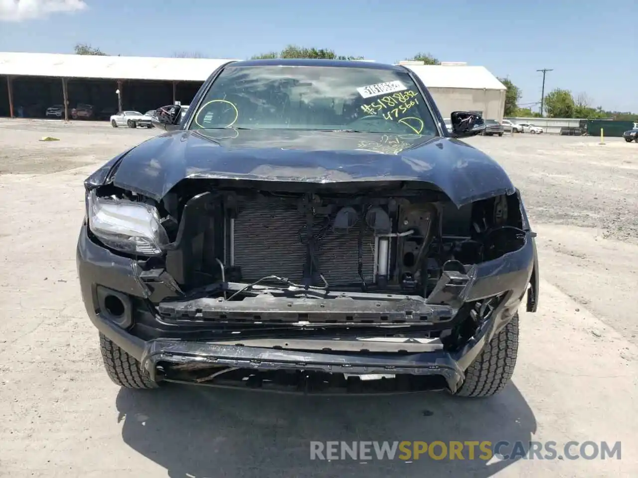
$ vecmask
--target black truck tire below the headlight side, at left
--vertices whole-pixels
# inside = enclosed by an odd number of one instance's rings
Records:
[[[116,385],[138,389],[159,387],[158,382],[151,380],[149,373],[142,368],[137,359],[124,352],[103,334],[100,334],[100,351],[108,377]]]

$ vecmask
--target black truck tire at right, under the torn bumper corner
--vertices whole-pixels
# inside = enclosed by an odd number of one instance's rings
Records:
[[[519,317],[512,320],[486,344],[465,372],[465,381],[457,396],[492,396],[505,388],[512,378],[518,354]]]

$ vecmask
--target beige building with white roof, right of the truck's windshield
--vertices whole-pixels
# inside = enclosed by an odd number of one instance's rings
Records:
[[[506,88],[484,66],[465,63],[440,65],[401,62],[425,83],[443,118],[453,111],[480,113],[485,119],[503,120]]]

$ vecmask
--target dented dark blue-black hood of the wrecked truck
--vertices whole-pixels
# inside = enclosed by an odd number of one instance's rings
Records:
[[[114,161],[108,177],[157,201],[184,178],[419,181],[445,192],[457,207],[515,191],[496,161],[463,141],[296,129],[171,131]]]

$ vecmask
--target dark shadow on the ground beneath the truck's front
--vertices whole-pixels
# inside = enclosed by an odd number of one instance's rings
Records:
[[[512,383],[484,400],[445,393],[296,396],[170,384],[160,391],[121,389],[117,409],[124,442],[172,478],[369,478],[397,472],[489,477],[514,461],[488,463],[467,456],[435,461],[427,455],[412,463],[376,458],[360,463],[348,456],[318,461],[310,460],[309,442],[521,440],[527,447],[536,431],[533,412]]]

